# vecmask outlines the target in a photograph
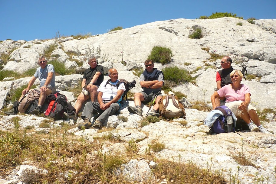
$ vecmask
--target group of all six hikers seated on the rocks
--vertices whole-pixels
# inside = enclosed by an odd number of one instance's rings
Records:
[[[104,81],[104,69],[103,66],[98,65],[97,58],[91,55],[87,58],[90,68],[88,68],[83,75],[81,87],[82,92],[77,97],[77,101],[73,108],[73,113],[68,114],[64,111],[63,117],[65,119],[72,118],[77,120],[77,114],[79,113],[83,103],[90,97],[91,102],[86,102],[81,114],[83,123],[78,125],[78,128],[101,128],[104,121],[110,116],[116,113],[122,104],[122,95],[126,90],[124,82],[118,80],[118,72],[112,68],[108,71],[110,79]],[[220,106],[220,102],[225,100],[225,106],[231,109],[232,113],[242,120],[244,120],[249,127],[250,131],[260,131],[267,133],[268,131],[260,124],[256,108],[250,105],[250,90],[247,85],[241,84],[243,75],[241,71],[234,70],[231,66],[232,59],[228,56],[224,56],[221,60],[222,69],[216,74],[217,89],[211,96],[213,109]],[[34,76],[28,83],[28,87],[22,91],[22,95],[18,102],[28,94],[31,86],[38,78],[40,81],[40,87],[34,89],[38,92],[38,104],[29,114],[38,115],[43,112],[43,104],[46,97],[50,94],[56,93],[55,86],[55,71],[54,66],[48,64],[48,60],[45,56],[40,56],[38,65]],[[140,76],[140,85],[143,88],[142,92],[135,93],[134,104],[135,107],[128,106],[127,109],[130,113],[142,116],[141,102],[146,103],[153,101],[152,110],[147,113],[148,116],[160,116],[159,101],[162,99],[161,87],[164,85],[163,72],[154,68],[152,60],[146,60],[144,62],[145,70]],[[17,106],[14,109],[5,112],[7,115],[16,114]],[[97,115],[97,119],[94,123],[91,123],[91,118]]]

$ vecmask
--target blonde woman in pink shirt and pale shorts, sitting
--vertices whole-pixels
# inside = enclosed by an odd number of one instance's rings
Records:
[[[230,73],[232,84],[228,84],[211,96],[213,109],[216,108],[215,98],[225,97],[225,106],[231,109],[237,118],[243,119],[250,131],[269,133],[261,125],[256,108],[250,105],[250,90],[247,85],[241,84],[242,73],[240,70],[233,70]]]

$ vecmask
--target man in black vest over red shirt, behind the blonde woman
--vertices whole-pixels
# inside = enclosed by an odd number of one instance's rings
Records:
[[[217,89],[215,91],[221,89],[223,86],[232,83],[230,78],[230,73],[233,71],[233,68],[231,66],[232,59],[228,56],[224,56],[220,64],[222,66],[222,69],[218,70],[216,75]],[[225,97],[215,98],[215,104],[217,107],[220,106],[220,100],[225,100]]]

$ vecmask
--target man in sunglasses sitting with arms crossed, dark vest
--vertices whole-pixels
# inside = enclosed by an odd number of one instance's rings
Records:
[[[135,107],[128,106],[127,109],[130,113],[141,116],[141,102],[150,102],[156,97],[155,105],[148,115],[159,116],[158,102],[162,98],[161,87],[164,85],[164,74],[162,71],[157,70],[157,68],[153,68],[154,64],[152,60],[146,60],[144,64],[146,69],[140,76],[140,85],[143,88],[143,91],[134,94]]]

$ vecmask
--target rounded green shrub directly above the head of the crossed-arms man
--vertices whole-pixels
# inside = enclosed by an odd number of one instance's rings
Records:
[[[162,65],[171,62],[173,53],[169,47],[154,46],[148,60],[153,60],[155,63],[161,63]]]

